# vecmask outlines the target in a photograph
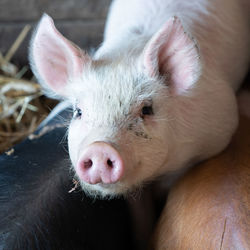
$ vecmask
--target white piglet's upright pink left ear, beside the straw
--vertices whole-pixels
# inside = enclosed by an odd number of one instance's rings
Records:
[[[44,14],[30,46],[31,67],[45,89],[67,96],[66,86],[82,73],[89,57],[55,28],[52,18]]]

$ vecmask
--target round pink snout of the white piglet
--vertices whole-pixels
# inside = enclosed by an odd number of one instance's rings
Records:
[[[89,184],[115,183],[122,177],[123,170],[120,154],[105,142],[90,144],[76,166],[80,180]]]

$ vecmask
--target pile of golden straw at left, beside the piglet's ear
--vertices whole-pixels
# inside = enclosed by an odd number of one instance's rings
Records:
[[[29,30],[24,27],[5,56],[0,52],[0,153],[32,133],[55,104],[34,80],[23,79],[28,66],[18,69],[11,63]]]

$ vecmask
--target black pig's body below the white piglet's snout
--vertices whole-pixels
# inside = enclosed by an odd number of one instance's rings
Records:
[[[125,200],[69,193],[65,132],[53,129],[0,156],[0,249],[134,249]]]

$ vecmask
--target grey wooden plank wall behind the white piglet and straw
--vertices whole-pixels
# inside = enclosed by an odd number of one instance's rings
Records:
[[[35,27],[42,13],[55,20],[68,39],[84,49],[95,48],[103,37],[111,0],[0,0],[0,51],[4,54],[26,24]],[[30,31],[31,34],[31,31]],[[27,64],[30,34],[12,61]]]

